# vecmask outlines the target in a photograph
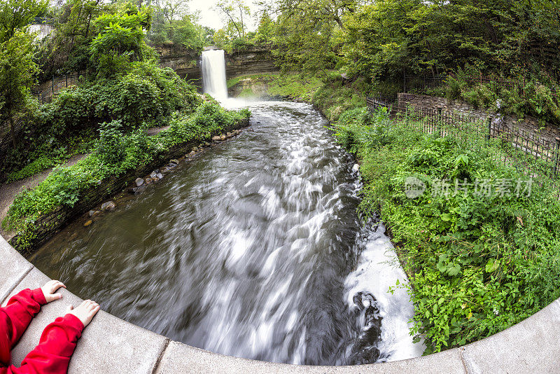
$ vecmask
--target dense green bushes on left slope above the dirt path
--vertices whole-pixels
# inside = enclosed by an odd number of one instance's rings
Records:
[[[157,127],[176,111],[195,111],[202,101],[195,87],[153,62],[132,62],[122,72],[64,90],[34,111],[28,134],[3,160],[4,172],[13,173],[10,181],[87,152],[87,146],[69,148],[68,139],[79,140],[99,123],[121,120],[127,131]]]

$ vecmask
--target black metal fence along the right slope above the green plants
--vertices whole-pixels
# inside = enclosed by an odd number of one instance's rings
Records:
[[[542,136],[534,130],[506,123],[499,116],[481,118],[442,109],[399,106],[372,97],[367,97],[366,102],[371,111],[385,108],[393,123],[421,132],[453,134],[459,138],[468,133],[487,141],[497,139],[504,152],[496,156],[496,162],[504,162],[526,176],[539,178],[541,184],[550,183],[560,199],[560,137]]]

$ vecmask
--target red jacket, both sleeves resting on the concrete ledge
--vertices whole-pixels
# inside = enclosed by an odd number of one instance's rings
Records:
[[[20,368],[10,365],[10,350],[18,344],[31,319],[47,302],[41,289],[25,289],[0,307],[0,374],[65,374],[83,324],[66,314],[45,327],[39,345],[29,352]]]

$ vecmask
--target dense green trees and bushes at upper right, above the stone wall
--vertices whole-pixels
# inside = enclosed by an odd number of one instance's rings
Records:
[[[559,99],[550,95],[560,75],[554,1],[281,0],[269,11],[278,15],[271,41],[283,71],[325,78],[334,70],[384,97],[402,90],[403,75],[511,78],[528,84],[525,97],[499,85],[450,96],[560,125]]]

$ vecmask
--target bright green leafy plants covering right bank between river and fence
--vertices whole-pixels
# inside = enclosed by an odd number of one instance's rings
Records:
[[[515,151],[474,127],[442,125],[426,134],[421,126],[354,109],[336,127],[360,159],[360,209],[365,216],[381,211],[411,277],[414,332],[426,336],[430,353],[502,331],[560,296],[560,202],[542,177],[527,196],[528,176],[502,161]],[[425,183],[423,195],[407,198],[409,177]],[[467,192],[456,193],[455,181]],[[477,194],[477,181],[511,184]]]

